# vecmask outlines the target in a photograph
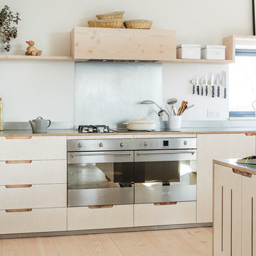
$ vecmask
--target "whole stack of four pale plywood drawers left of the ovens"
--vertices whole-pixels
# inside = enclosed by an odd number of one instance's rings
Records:
[[[67,230],[66,137],[0,137],[0,233]]]

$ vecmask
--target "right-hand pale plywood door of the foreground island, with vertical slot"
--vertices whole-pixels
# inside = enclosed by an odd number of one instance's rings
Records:
[[[256,176],[242,176],[242,256],[256,256]]]

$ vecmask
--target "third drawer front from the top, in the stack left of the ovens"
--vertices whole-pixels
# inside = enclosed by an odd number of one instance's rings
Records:
[[[0,209],[67,206],[67,185],[32,185],[28,188],[0,186]]]

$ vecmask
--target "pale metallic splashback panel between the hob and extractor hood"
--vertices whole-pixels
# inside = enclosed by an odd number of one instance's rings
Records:
[[[124,127],[140,115],[159,121],[159,110],[142,100],[161,105],[161,64],[75,63],[75,124]]]

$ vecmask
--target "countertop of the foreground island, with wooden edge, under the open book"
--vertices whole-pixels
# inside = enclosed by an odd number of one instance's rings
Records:
[[[247,174],[256,175],[256,165],[255,164],[238,164],[236,163],[238,159],[218,159],[213,160],[213,164],[220,164],[238,171],[245,172]]]

